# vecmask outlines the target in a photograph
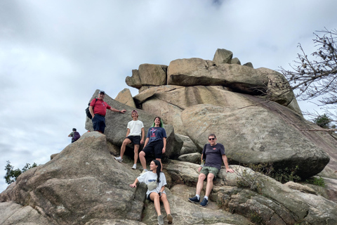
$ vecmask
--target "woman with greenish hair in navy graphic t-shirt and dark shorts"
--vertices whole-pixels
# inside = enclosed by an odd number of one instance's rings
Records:
[[[147,172],[145,155],[154,153],[154,158],[161,164],[161,154],[166,151],[166,131],[160,117],[155,117],[152,127],[147,131],[144,148],[139,153],[139,160],[143,166],[143,173]],[[162,165],[161,165],[162,167]]]

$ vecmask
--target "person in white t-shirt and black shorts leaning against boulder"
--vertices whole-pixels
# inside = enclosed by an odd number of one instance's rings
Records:
[[[132,169],[137,169],[137,161],[138,161],[138,150],[140,145],[144,143],[144,124],[140,120],[138,120],[138,112],[137,110],[133,110],[131,113],[131,117],[133,120],[128,122],[128,131],[126,131],[126,138],[124,139],[123,143],[121,144],[121,156],[115,157],[114,159],[118,162],[123,161],[123,155],[125,152],[126,145],[129,143],[133,143],[134,145],[134,164]],[[141,138],[141,139],[140,139]]]

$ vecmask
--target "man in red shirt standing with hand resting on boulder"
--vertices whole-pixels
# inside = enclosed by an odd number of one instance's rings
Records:
[[[98,94],[98,98],[93,98],[93,101],[91,101],[89,105],[89,111],[91,116],[93,117],[93,130],[98,131],[102,134],[104,134],[105,130],[105,114],[108,110],[112,110],[112,112],[118,112],[118,113],[125,113],[126,110],[117,110],[115,108],[112,108],[110,105],[107,105],[105,101],[103,101],[105,97],[105,91],[100,91]]]

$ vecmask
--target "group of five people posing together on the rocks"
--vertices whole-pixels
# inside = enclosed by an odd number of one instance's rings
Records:
[[[91,101],[89,110],[93,117],[93,129],[104,133],[105,129],[105,114],[106,110],[110,109],[112,112],[125,113],[126,110],[117,110],[111,108],[105,101],[105,92],[100,91],[98,98]],[[123,156],[126,150],[126,145],[133,143],[134,145],[134,163],[132,169],[137,169],[138,156],[140,164],[143,167],[143,172],[136,178],[133,184],[130,184],[131,188],[136,188],[138,182],[147,184],[146,198],[154,203],[154,208],[158,216],[158,224],[164,224],[164,219],[161,215],[160,202],[163,203],[166,211],[166,219],[169,224],[172,223],[173,217],[171,215],[171,209],[169,201],[167,200],[166,193],[164,191],[166,186],[166,177],[162,172],[161,156],[166,152],[166,131],[163,126],[163,122],[160,117],[155,117],[152,127],[148,129],[147,136],[145,138],[144,124],[138,120],[137,110],[133,110],[131,113],[133,120],[128,122],[126,138],[121,145],[121,153],[119,157],[114,159],[118,162],[123,161]],[[225,155],[225,147],[221,143],[216,142],[216,134],[209,134],[209,143],[205,144],[201,154],[201,165],[198,169],[199,178],[197,182],[197,190],[193,198],[188,198],[191,203],[197,203],[201,207],[206,207],[209,203],[209,195],[213,188],[213,180],[216,179],[221,166],[224,164],[226,172],[234,172],[230,169],[227,156]],[[139,152],[140,146],[144,144],[143,150]],[[150,162],[150,171],[146,168],[145,155],[154,154],[155,160]],[[206,192],[202,201],[200,198],[201,190],[204,186],[204,180],[206,179]]]

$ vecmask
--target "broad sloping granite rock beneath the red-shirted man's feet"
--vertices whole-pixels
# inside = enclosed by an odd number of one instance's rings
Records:
[[[105,135],[88,132],[53,160],[21,174],[15,186],[1,193],[0,201],[14,201],[28,211],[32,207],[51,224],[140,221],[146,186],[128,186],[138,174],[112,158]]]

